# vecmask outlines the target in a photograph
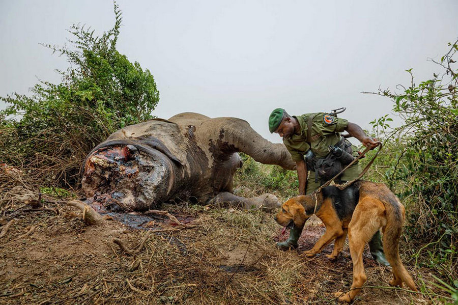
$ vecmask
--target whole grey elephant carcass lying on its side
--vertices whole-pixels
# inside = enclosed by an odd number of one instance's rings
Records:
[[[262,163],[295,166],[282,144],[265,140],[244,120],[183,113],[111,134],[85,159],[82,188],[108,210],[143,211],[179,200],[276,207],[271,194],[250,199],[232,194],[242,165],[239,151]]]

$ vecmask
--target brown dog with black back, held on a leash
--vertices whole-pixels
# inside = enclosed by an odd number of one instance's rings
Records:
[[[339,301],[351,302],[366,282],[362,254],[364,246],[382,228],[383,249],[391,264],[391,286],[402,287],[403,282],[417,291],[412,277],[399,257],[399,238],[405,220],[404,206],[385,184],[357,180],[340,190],[336,186],[324,187],[318,193],[297,196],[281,205],[275,216],[283,227],[304,227],[307,219],[316,214],[326,226],[325,234],[305,252],[307,257],[320,253],[335,240],[329,258],[335,259],[342,251],[348,234],[350,255],[353,261],[353,284],[346,292],[336,292]]]

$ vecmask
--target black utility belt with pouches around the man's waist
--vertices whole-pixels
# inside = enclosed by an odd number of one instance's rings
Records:
[[[340,141],[334,146],[329,146],[329,153],[324,158],[318,158],[309,149],[304,159],[307,164],[307,169],[315,172],[315,182],[321,180],[321,183],[325,183],[332,177],[340,173],[346,165],[350,164],[355,157],[352,155],[353,149],[350,141],[341,137]],[[337,178],[337,180],[340,180]],[[340,183],[340,181],[337,181]]]

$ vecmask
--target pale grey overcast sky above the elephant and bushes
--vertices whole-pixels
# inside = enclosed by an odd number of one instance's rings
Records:
[[[154,115],[180,112],[247,120],[268,140],[276,107],[292,115],[345,106],[342,117],[369,129],[389,99],[361,94],[408,85],[440,69],[458,37],[458,1],[118,1],[118,50],[154,75]],[[0,0],[0,96],[27,94],[38,78],[59,82],[72,23],[111,29],[108,0]],[[5,108],[1,102],[0,109]]]

